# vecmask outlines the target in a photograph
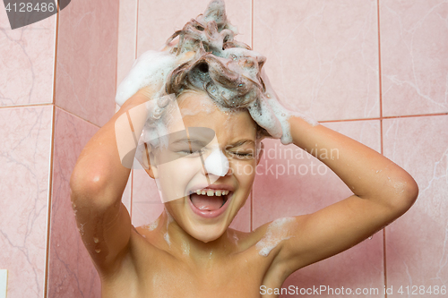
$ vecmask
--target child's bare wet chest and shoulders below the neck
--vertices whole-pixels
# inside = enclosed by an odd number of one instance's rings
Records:
[[[151,247],[134,245],[116,280],[103,285],[103,297],[262,297],[261,285],[283,282],[272,270],[272,260],[255,247],[200,262]]]

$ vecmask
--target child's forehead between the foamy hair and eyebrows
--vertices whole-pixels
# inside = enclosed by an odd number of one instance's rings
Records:
[[[219,140],[255,140],[256,124],[247,110],[216,106],[203,92],[185,91],[177,98],[185,127],[208,127]]]

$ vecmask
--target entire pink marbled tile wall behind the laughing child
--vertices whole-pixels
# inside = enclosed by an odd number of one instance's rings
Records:
[[[135,57],[158,49],[207,3],[78,0],[17,30],[0,8],[0,268],[8,269],[8,298],[99,296],[70,207],[74,162],[113,115],[116,84]],[[286,105],[382,152],[420,188],[414,207],[373,239],[297,271],[284,286],[393,286],[387,297],[402,297],[401,285],[448,286],[448,1],[228,0],[227,11],[239,38],[267,56]],[[265,143],[277,158],[265,154],[261,166],[302,172],[276,177],[262,167],[234,227],[250,231],[350,194],[322,166],[313,175],[314,159],[280,157],[298,149]],[[134,225],[158,216],[156,194],[134,170],[124,195]]]

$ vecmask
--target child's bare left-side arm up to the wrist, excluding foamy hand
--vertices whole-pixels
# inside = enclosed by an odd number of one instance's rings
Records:
[[[146,93],[145,93],[146,92]],[[134,132],[139,136],[146,119],[142,103],[149,89],[129,98],[87,143],[70,179],[71,199],[82,241],[102,273],[113,272],[123,258],[131,234],[131,219],[121,197],[131,170],[122,166],[116,143],[116,119],[133,109]],[[126,123],[127,124],[127,123]],[[131,138],[131,140],[133,140]],[[130,144],[132,148],[134,143]]]

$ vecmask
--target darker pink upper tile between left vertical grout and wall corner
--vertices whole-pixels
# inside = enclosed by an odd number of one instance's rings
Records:
[[[55,104],[102,126],[115,111],[118,1],[72,1],[59,18]]]

